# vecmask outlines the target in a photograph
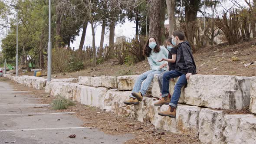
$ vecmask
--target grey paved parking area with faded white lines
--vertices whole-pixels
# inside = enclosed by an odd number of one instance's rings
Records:
[[[0,82],[0,144],[121,144],[132,138],[82,127],[72,112],[33,108],[42,105],[29,93]],[[69,138],[70,134],[76,138]]]

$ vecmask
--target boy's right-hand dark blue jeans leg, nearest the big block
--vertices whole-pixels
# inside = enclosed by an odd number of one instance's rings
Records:
[[[169,104],[171,107],[174,107],[174,108],[177,107],[178,101],[181,96],[181,88],[186,84],[187,84],[187,78],[186,78],[186,75],[183,74],[181,75],[178,82],[174,86],[174,93],[171,97],[171,102]]]

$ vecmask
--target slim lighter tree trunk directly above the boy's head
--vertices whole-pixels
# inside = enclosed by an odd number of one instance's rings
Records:
[[[166,0],[168,20],[169,20],[169,37],[171,37],[174,30],[176,30],[176,20],[175,20],[175,3],[176,0]]]

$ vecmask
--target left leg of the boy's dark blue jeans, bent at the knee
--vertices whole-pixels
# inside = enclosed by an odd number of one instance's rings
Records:
[[[163,76],[163,88],[162,88],[162,98],[164,98],[164,97],[169,95],[170,79],[177,78],[177,77],[179,77],[181,75],[182,75],[182,73],[177,72],[176,70],[164,73],[164,76]]]

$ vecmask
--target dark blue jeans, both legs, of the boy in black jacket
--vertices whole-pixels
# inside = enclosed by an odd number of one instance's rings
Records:
[[[181,96],[181,88],[187,84],[187,78],[186,75],[184,75],[181,72],[178,72],[177,70],[174,71],[170,71],[170,72],[165,72],[164,76],[163,76],[163,88],[162,88],[162,97],[166,97],[169,94],[169,82],[170,79],[173,78],[177,78],[179,77],[178,82],[176,83],[176,85],[174,86],[174,93],[171,97],[171,102],[170,102],[170,106],[176,108],[178,101],[180,99]]]

